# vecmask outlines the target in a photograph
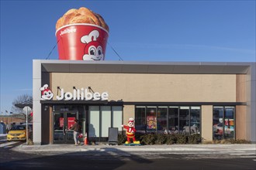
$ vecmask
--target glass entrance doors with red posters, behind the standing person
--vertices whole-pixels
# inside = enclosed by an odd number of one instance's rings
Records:
[[[74,143],[73,130],[69,130],[78,119],[78,111],[54,112],[54,144]]]

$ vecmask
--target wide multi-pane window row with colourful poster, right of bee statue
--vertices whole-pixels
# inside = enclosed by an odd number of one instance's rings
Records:
[[[201,107],[137,106],[135,124],[140,133],[200,134]]]

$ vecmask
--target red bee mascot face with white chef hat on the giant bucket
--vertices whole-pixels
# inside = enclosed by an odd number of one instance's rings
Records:
[[[93,30],[87,36],[81,37],[81,42],[85,43],[85,55],[84,60],[103,60],[104,53],[102,49],[102,44],[97,41],[99,39],[99,31]]]

